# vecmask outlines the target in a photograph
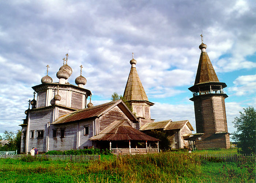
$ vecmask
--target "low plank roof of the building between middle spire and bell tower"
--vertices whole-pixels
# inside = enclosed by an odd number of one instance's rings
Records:
[[[146,123],[142,128],[140,128],[140,130],[176,130],[183,128],[186,124],[191,131],[194,131],[192,125],[189,123],[188,120],[173,122],[171,119],[160,122]]]

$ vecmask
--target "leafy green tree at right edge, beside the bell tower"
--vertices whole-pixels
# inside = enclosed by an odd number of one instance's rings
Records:
[[[232,139],[237,142],[238,152],[243,154],[255,154],[256,142],[256,110],[249,106],[244,112],[239,112],[232,123],[237,131],[233,133]]]

